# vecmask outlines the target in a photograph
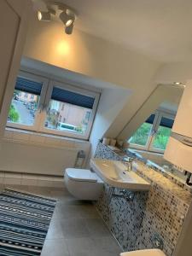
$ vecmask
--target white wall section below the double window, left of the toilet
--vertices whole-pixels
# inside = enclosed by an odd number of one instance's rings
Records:
[[[79,150],[88,158],[90,143],[9,129],[0,143],[0,171],[63,176]]]

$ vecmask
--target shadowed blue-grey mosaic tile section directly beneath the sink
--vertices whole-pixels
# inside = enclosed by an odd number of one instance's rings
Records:
[[[119,194],[119,192],[120,189],[114,191],[115,194]],[[96,205],[105,223],[125,251],[132,251],[136,247],[147,198],[148,192],[135,193],[133,201],[111,198],[110,187],[105,185],[104,193]]]

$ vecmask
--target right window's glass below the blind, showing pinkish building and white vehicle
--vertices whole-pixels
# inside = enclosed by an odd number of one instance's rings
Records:
[[[50,100],[44,126],[57,131],[84,134],[87,130],[92,110]]]

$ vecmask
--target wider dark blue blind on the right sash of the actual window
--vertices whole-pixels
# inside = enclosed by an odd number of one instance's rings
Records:
[[[95,101],[93,97],[84,96],[71,90],[63,90],[58,87],[54,87],[51,99],[90,109],[93,108],[93,104]]]

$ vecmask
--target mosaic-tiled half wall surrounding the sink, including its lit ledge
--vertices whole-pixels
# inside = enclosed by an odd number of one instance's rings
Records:
[[[102,143],[98,144],[95,157],[121,160],[121,156]],[[163,251],[172,256],[192,196],[143,163],[136,161],[133,166],[137,174],[151,183],[151,189],[136,192],[133,201],[126,201],[111,197],[111,189],[105,185],[96,207],[125,251],[153,248],[153,238],[159,236]],[[115,189],[115,194],[119,190]]]

